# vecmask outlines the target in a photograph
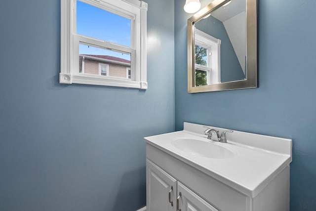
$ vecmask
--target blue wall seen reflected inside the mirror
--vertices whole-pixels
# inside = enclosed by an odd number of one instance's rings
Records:
[[[228,37],[222,21],[212,15],[199,20],[195,27],[208,35],[221,40],[221,82],[232,82],[245,79],[233,44]]]

